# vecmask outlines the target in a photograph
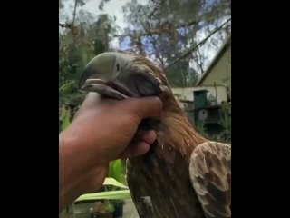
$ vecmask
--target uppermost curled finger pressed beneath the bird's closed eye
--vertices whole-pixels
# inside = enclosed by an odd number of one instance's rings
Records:
[[[127,106],[134,114],[140,117],[140,120],[145,118],[160,119],[162,113],[162,102],[159,97],[144,97],[130,98],[124,100]]]

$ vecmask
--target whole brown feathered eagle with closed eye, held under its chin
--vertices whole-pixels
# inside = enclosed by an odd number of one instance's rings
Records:
[[[189,124],[165,74],[149,59],[123,52],[99,54],[86,66],[80,89],[122,100],[156,95],[160,122],[150,151],[128,160],[127,179],[140,218],[231,217],[231,145],[212,142]]]

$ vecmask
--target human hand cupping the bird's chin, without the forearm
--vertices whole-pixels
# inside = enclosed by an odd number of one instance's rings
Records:
[[[150,149],[156,139],[154,131],[134,134],[143,119],[159,119],[161,109],[157,97],[116,101],[90,93],[75,114],[71,127],[77,129],[80,144],[86,144],[95,154],[102,154],[104,162],[130,158]]]

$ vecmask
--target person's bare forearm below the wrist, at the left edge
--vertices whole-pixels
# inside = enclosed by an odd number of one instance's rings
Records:
[[[106,164],[92,160],[85,144],[72,132],[59,136],[59,210],[82,193],[96,192],[106,176]],[[95,155],[97,159],[97,155]],[[93,182],[92,182],[93,180]]]

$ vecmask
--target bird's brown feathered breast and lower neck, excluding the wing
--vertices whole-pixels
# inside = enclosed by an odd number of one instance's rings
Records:
[[[140,218],[204,217],[190,183],[189,158],[206,141],[182,114],[163,113],[150,152],[128,161],[128,184]]]

